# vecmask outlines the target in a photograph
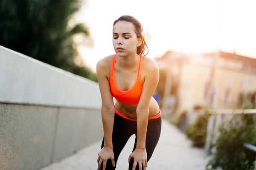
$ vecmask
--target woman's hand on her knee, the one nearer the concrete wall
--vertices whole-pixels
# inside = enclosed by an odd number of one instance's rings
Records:
[[[100,170],[100,167],[102,165],[103,161],[103,170],[105,170],[108,159],[111,159],[113,167],[115,167],[115,159],[114,159],[114,152],[112,148],[109,147],[102,147],[102,149],[98,153],[98,170]]]

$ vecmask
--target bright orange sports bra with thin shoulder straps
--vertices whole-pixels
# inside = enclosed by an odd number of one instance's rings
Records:
[[[124,104],[128,105],[137,105],[140,101],[140,96],[143,89],[143,82],[141,81],[140,72],[141,72],[141,62],[143,59],[143,56],[140,55],[140,59],[137,65],[137,78],[134,82],[134,85],[132,88],[130,88],[127,91],[120,90],[115,81],[115,65],[116,65],[116,54],[113,56],[112,62],[111,62],[111,70],[110,70],[110,76],[109,76],[109,85],[110,90],[113,95],[113,97]]]

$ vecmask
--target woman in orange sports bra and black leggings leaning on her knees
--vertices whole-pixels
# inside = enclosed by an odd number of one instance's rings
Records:
[[[98,170],[116,168],[118,156],[133,134],[136,139],[128,158],[129,170],[145,170],[160,138],[161,111],[152,97],[159,69],[154,60],[142,56],[147,47],[142,33],[134,17],[117,19],[113,24],[116,54],[101,59],[96,66],[104,130]]]

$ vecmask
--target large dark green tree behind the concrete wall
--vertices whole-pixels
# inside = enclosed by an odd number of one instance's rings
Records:
[[[92,42],[84,23],[70,26],[83,0],[1,0],[0,45],[55,67],[97,81],[78,57],[75,35]]]

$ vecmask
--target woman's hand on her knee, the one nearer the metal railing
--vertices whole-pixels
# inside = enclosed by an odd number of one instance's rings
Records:
[[[143,170],[146,169],[146,167],[148,166],[148,162],[147,162],[147,151],[145,149],[138,149],[136,148],[129,156],[129,163],[131,161],[131,158],[134,158],[134,164],[132,166],[132,170],[135,170],[137,163],[139,164],[139,170]]]

